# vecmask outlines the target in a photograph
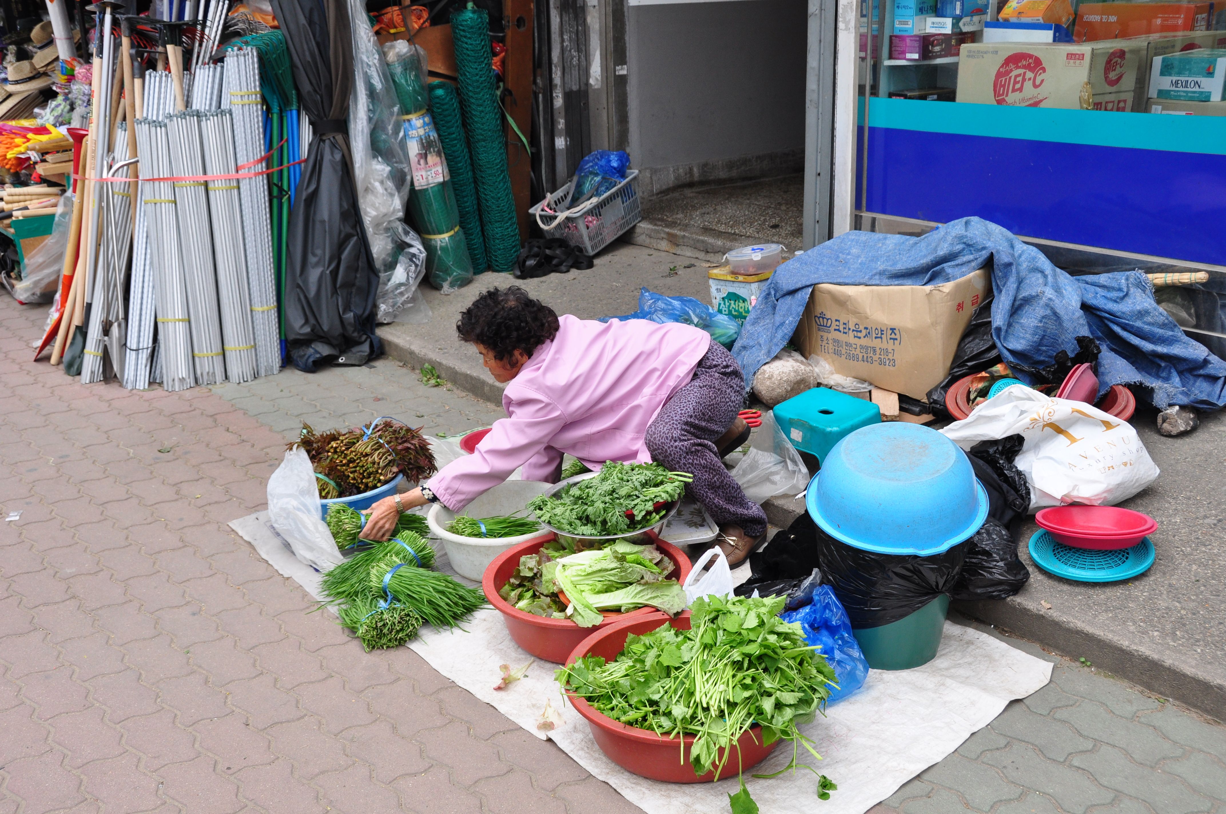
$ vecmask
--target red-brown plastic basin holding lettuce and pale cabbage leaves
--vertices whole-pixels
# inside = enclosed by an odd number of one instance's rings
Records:
[[[660,539],[655,532],[645,532],[651,537],[651,542],[655,543],[664,557],[673,561],[676,568],[673,572],[668,575],[668,579],[676,579],[678,582],[684,582],[685,577],[689,576],[690,561],[676,546],[671,546],[664,541]],[[508,548],[505,552],[498,555],[489,568],[485,569],[485,574],[482,576],[481,587],[485,592],[485,598],[489,603],[498,608],[498,612],[503,614],[503,622],[506,623],[506,630],[511,634],[511,639],[515,640],[520,647],[532,653],[537,658],[543,658],[550,661],[555,664],[560,664],[566,661],[566,656],[580,645],[585,639],[587,639],[592,633],[597,630],[603,630],[604,628],[612,625],[615,622],[622,622],[629,619],[630,617],[646,615],[656,613],[667,618],[667,614],[661,614],[655,608],[639,608],[638,610],[631,610],[630,613],[611,613],[606,617],[604,622],[596,625],[595,628],[580,628],[570,619],[547,619],[544,617],[538,617],[535,613],[526,613],[524,610],[515,609],[509,602],[503,597],[498,596],[499,590],[506,581],[511,579],[511,572],[519,568],[520,558],[526,554],[536,554],[541,550],[541,547],[553,539],[553,533],[542,534],[539,537],[533,537],[526,543],[521,543],[512,548]],[[623,639],[623,642],[625,640]]]

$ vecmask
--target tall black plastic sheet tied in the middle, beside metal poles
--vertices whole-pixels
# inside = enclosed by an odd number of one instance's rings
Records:
[[[286,34],[298,101],[311,141],[289,213],[286,340],[294,367],[365,364],[383,353],[375,336],[375,268],[353,184],[346,119],[353,42],[345,0],[272,0]]]

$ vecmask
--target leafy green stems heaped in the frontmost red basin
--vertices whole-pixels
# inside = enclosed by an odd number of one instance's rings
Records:
[[[702,597],[691,608],[690,630],[663,625],[631,635],[614,661],[587,656],[559,669],[557,679],[615,721],[661,736],[696,736],[690,764],[698,775],[718,775],[753,726],[765,743],[791,740],[793,750],[803,745],[820,760],[798,726],[825,706],[835,673],[798,624],[779,618],[783,603]],[[743,801],[753,802],[748,792]]]

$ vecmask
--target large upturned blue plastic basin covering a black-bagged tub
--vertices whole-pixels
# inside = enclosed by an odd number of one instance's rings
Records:
[[[980,530],[988,495],[951,440],[920,424],[872,424],[839,441],[809,482],[823,531],[879,554],[939,554]]]

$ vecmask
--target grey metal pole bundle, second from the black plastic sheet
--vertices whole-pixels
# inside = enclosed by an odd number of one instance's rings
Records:
[[[200,116],[205,146],[205,172],[229,175],[237,172],[234,127],[229,110],[210,110]],[[243,245],[243,213],[237,179],[208,181],[208,213],[212,219],[213,256],[217,259],[217,292],[222,313],[226,378],[234,384],[255,379],[255,332],[251,327],[251,295],[246,280]]]

